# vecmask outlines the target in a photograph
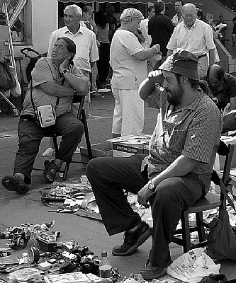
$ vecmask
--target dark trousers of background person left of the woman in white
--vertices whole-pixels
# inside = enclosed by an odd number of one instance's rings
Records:
[[[99,82],[105,83],[109,72],[110,43],[101,42],[99,48],[99,61],[96,62],[98,67]]]

